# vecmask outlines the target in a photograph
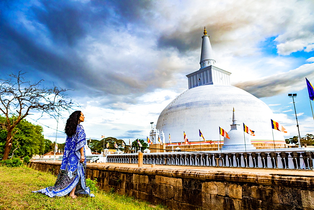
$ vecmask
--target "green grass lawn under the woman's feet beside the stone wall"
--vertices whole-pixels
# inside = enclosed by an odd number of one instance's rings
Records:
[[[165,209],[105,191],[93,192],[94,198],[77,199],[31,193],[52,186],[55,181],[56,176],[27,167],[0,167],[0,209]]]

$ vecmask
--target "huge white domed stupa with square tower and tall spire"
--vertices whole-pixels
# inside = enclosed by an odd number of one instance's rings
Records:
[[[238,123],[255,131],[252,141],[272,143],[274,135],[276,143],[285,143],[282,132],[273,130],[272,134],[271,109],[252,94],[231,86],[231,73],[213,66],[216,61],[205,29],[202,39],[201,68],[187,75],[189,89],[160,113],[156,129],[171,134],[172,142],[182,142],[183,131],[189,141],[199,141],[199,129],[206,140],[217,141],[219,126],[229,130],[235,108]]]

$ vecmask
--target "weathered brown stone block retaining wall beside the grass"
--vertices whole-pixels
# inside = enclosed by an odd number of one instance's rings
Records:
[[[30,167],[57,174],[60,163]],[[92,166],[87,178],[100,189],[171,209],[314,209],[314,178],[246,172]]]

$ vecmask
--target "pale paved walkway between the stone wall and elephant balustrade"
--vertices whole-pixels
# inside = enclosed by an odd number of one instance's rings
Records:
[[[122,167],[138,167],[138,164],[129,163],[87,163],[89,166],[122,166]],[[143,164],[142,168],[152,168],[151,165]],[[257,174],[272,174],[272,175],[298,175],[298,176],[314,176],[313,170],[287,170],[287,169],[247,169],[247,168],[222,168],[222,167],[195,167],[195,166],[169,166],[169,165],[155,165],[156,169],[183,169],[196,171],[228,171],[228,172],[250,172]]]

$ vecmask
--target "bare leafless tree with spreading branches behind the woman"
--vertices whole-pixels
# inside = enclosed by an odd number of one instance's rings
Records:
[[[75,105],[71,97],[65,94],[68,90],[57,86],[44,87],[41,84],[43,80],[31,83],[25,80],[24,74],[19,72],[8,75],[7,79],[0,79],[0,113],[6,117],[0,127],[8,132],[3,160],[8,159],[11,151],[13,137],[17,132],[14,128],[31,114],[31,110],[41,112],[41,116],[47,113],[56,118],[59,110],[69,110]]]

